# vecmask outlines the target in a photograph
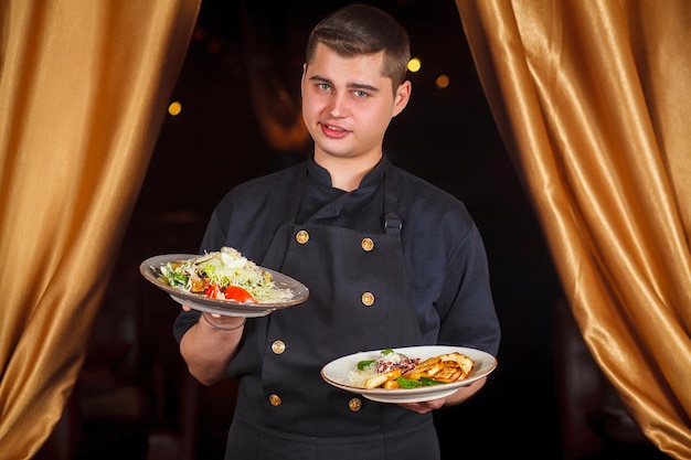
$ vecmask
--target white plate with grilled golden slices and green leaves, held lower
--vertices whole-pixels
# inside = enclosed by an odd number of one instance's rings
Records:
[[[414,376],[424,363],[461,356],[467,374],[455,379]],[[464,346],[425,345],[373,350],[339,357],[325,365],[321,377],[330,385],[379,403],[422,403],[450,396],[461,386],[488,376],[497,367],[497,359],[481,350]],[[401,372],[395,372],[401,371]],[[395,372],[392,386],[368,387],[369,379]]]

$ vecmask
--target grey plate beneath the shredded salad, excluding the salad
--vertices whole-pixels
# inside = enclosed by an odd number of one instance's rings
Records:
[[[272,278],[277,288],[290,289],[290,291],[293,292],[293,299],[285,302],[274,303],[241,303],[225,299],[211,299],[203,295],[191,293],[182,289],[173,288],[172,286],[169,286],[160,279],[162,265],[169,261],[185,260],[194,257],[199,257],[199,255],[167,254],[162,256],[150,257],[142,261],[141,265],[139,265],[139,271],[147,280],[151,281],[153,286],[168,292],[176,302],[188,306],[194,310],[205,311],[209,313],[217,313],[227,317],[265,317],[273,311],[302,303],[309,297],[309,290],[302,284],[284,274],[264,267],[262,267],[262,269],[272,274]]]

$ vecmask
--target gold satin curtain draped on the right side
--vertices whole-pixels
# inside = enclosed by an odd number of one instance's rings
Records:
[[[691,2],[456,4],[588,349],[691,458]]]

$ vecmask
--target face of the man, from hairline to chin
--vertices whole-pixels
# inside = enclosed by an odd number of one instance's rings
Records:
[[[315,160],[357,159],[375,164],[391,119],[407,105],[411,83],[395,94],[382,76],[384,53],[343,57],[319,44],[302,73],[302,117]]]

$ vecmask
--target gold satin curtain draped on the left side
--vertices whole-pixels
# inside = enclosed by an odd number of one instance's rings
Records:
[[[0,2],[0,457],[60,419],[200,0]]]

